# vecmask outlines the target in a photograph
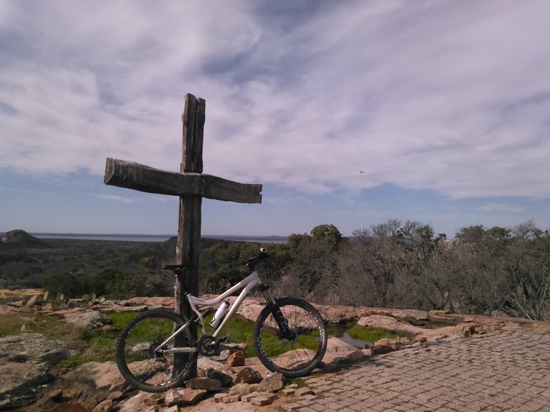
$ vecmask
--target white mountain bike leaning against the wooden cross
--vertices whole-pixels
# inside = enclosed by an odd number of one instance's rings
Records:
[[[131,320],[122,330],[116,347],[118,369],[126,381],[137,389],[162,392],[179,387],[186,379],[198,356],[217,356],[228,336],[218,338],[223,327],[235,314],[253,288],[259,288],[266,305],[254,325],[256,356],[270,371],[298,377],[318,367],[327,350],[327,329],[318,310],[303,299],[276,299],[262,282],[254,266],[267,258],[265,249],[245,262],[252,273],[214,299],[199,299],[188,292],[186,267],[163,264],[181,282],[192,316],[165,309],[147,310]],[[241,290],[233,304],[226,300]],[[214,312],[206,334],[205,317]],[[192,339],[190,328],[197,325],[198,339]]]

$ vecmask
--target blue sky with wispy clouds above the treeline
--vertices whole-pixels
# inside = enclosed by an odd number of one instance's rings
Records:
[[[550,229],[550,2],[0,1],[0,231],[177,233],[178,198],[104,185],[107,157],[179,171],[186,93],[205,235],[453,238]]]

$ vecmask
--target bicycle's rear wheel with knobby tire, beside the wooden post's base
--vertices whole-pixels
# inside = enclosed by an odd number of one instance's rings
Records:
[[[175,371],[175,355],[160,350],[174,347],[174,339],[166,339],[182,325],[184,319],[163,309],[149,310],[130,321],[117,343],[116,361],[122,376],[137,389],[147,392],[163,392],[179,386],[193,356],[179,354],[183,367]],[[175,339],[178,347],[188,347],[189,330],[183,330]]]

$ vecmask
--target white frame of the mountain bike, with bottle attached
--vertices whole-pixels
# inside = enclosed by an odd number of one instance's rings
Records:
[[[229,307],[229,310],[228,310],[227,314],[225,315],[225,318],[223,318],[223,321],[219,324],[218,328],[212,334],[212,336],[214,336],[214,338],[215,338],[219,334],[219,332],[223,329],[223,327],[225,326],[225,323],[227,323],[229,321],[229,319],[233,316],[233,314],[239,309],[239,307],[243,303],[245,297],[247,297],[248,293],[250,293],[250,290],[252,290],[256,286],[260,286],[262,284],[263,284],[263,282],[260,279],[260,277],[258,275],[258,272],[253,271],[252,273],[250,273],[250,275],[245,277],[245,279],[241,280],[241,282],[239,282],[235,286],[232,286],[228,290],[225,290],[224,293],[222,293],[218,297],[215,297],[214,299],[203,300],[203,299],[199,299],[198,297],[195,297],[195,296],[191,295],[190,293],[186,293],[187,300],[189,302],[189,306],[190,306],[191,310],[193,312],[195,312],[197,314],[197,316],[199,317],[199,321],[201,323],[202,333],[206,334],[206,328],[204,327],[204,319],[203,319],[203,316],[202,316],[201,312],[199,311],[199,308],[215,308],[225,298],[229,297],[230,295],[235,293],[237,290],[243,289],[241,291],[241,293],[239,294],[239,297],[237,297],[236,300],[233,302],[233,304]],[[275,297],[273,296],[273,294],[272,294],[272,292],[269,288],[265,288],[264,290],[262,290],[262,292],[263,292],[263,295],[265,297],[265,300],[267,301],[267,304],[274,304],[275,303]],[[161,353],[199,352],[198,347],[173,347],[172,349],[164,349],[164,350],[161,349],[161,347],[166,345],[166,343],[168,343],[168,341],[170,341],[170,339],[173,339],[182,330],[184,330],[185,328],[188,328],[190,323],[191,323],[191,321],[186,321],[186,323],[183,326],[181,326],[181,328],[176,330],[173,334],[170,335],[170,337],[168,337],[168,339],[166,339],[166,341],[161,343],[157,347],[155,352],[161,352]]]

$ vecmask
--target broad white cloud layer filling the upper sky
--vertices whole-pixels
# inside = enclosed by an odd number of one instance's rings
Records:
[[[547,1],[2,7],[1,168],[177,170],[190,92],[207,102],[209,174],[550,196]]]

